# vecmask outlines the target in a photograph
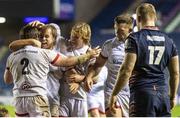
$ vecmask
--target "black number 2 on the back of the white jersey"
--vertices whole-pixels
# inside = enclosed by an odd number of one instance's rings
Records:
[[[29,74],[29,71],[28,71],[29,60],[27,58],[23,58],[23,59],[21,59],[20,63],[21,63],[21,65],[23,65],[22,74],[23,75]]]

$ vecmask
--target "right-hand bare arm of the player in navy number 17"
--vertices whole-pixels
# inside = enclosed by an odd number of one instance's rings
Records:
[[[168,70],[170,73],[170,100],[175,101],[175,97],[178,90],[179,85],[179,57],[174,56],[170,59],[170,63],[168,65]],[[175,102],[174,102],[175,103]],[[175,104],[171,103],[171,107],[173,108]]]

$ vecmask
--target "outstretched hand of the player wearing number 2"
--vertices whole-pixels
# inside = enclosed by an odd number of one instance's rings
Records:
[[[90,58],[96,58],[96,57],[99,56],[100,52],[101,52],[101,48],[100,48],[99,46],[97,46],[97,47],[89,50],[89,51],[87,52],[87,54],[90,55]]]

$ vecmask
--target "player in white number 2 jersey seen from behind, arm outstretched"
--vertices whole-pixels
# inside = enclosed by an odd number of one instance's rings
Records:
[[[39,38],[38,28],[25,26],[21,38]],[[4,81],[14,83],[14,106],[17,116],[50,116],[47,100],[47,74],[49,64],[54,66],[73,66],[82,64],[98,55],[93,49],[85,55],[64,57],[55,51],[40,49],[32,45],[13,52],[7,59]]]

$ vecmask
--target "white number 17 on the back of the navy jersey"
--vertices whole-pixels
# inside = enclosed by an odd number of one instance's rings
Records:
[[[164,46],[148,46],[149,53],[149,64],[159,65],[162,56],[164,54]],[[154,57],[154,53],[158,51],[157,56]]]

